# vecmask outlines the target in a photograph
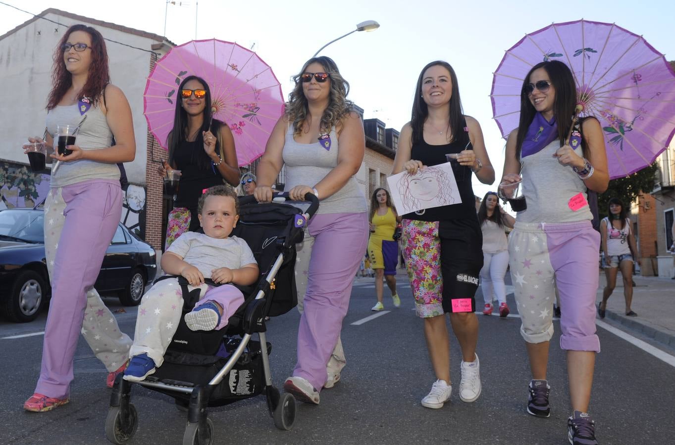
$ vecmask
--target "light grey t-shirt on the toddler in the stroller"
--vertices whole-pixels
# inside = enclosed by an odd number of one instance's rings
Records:
[[[213,269],[239,269],[246,264],[257,264],[246,241],[235,236],[220,239],[205,233],[186,232],[173,241],[167,251],[198,268],[204,278],[211,278]]]

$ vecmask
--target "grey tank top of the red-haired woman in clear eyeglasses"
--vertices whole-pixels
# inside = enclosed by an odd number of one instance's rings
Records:
[[[90,107],[85,113],[86,121],[82,123],[80,131],[75,138],[75,145],[82,150],[97,150],[110,146],[113,133],[108,127],[105,115],[99,107]],[[78,125],[84,115],[80,115],[78,104],[54,107],[47,113],[47,131],[56,135],[57,125]],[[54,147],[57,146],[54,136]],[[52,174],[49,186],[51,188],[64,187],[91,179],[112,179],[119,181],[119,167],[116,164],[96,162],[94,160],[76,160],[74,162],[60,162],[59,168],[54,172],[55,164],[52,164]]]

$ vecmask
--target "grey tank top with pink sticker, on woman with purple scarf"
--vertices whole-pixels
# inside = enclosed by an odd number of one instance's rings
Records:
[[[522,158],[522,194],[527,209],[518,212],[518,223],[576,223],[593,220],[586,185],[571,167],[560,165],[558,158],[553,157],[558,148],[560,142],[554,140],[539,152]],[[582,156],[580,146],[574,152]],[[570,200],[578,194],[583,196],[585,205],[570,204]]]

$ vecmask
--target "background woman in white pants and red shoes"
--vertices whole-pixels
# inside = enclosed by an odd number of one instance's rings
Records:
[[[510,313],[506,304],[506,285],[504,275],[508,268],[508,244],[504,226],[513,229],[516,222],[513,216],[499,206],[499,198],[494,191],[488,191],[478,209],[478,223],[483,232],[483,268],[481,269],[481,289],[483,290],[483,315],[492,315],[493,297],[499,303],[499,317]],[[494,295],[493,295],[494,292]]]

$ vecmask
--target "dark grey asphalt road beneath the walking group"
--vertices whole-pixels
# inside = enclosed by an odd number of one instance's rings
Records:
[[[517,316],[479,316],[483,392],[475,403],[458,396],[460,353],[451,341],[452,403],[427,409],[420,400],[435,380],[423,337],[414,315],[412,295],[399,273],[402,306],[385,299],[386,314],[362,324],[352,323],[375,313],[373,278],[358,278],[342,340],[348,365],[334,388],[321,392],[321,405],[299,403],[294,428],[276,429],[265,397],[209,409],[216,427],[215,444],[567,444],[570,415],[566,362],[558,347],[560,326],[551,342],[549,384],[551,417],[525,412],[529,365]],[[385,291],[386,292],[386,291]],[[512,309],[515,303],[509,295]],[[479,293],[477,301],[482,301]],[[107,299],[114,309],[116,299]],[[115,314],[124,332],[133,334],[135,308]],[[515,310],[514,310],[515,312]],[[104,425],[110,390],[105,368],[80,338],[76,352],[72,401],[49,413],[27,413],[22,403],[32,394],[40,370],[46,314],[29,324],[0,321],[0,444],[108,444]],[[295,364],[299,316],[295,310],[269,322],[273,344],[271,368],[281,386]],[[600,326],[607,326],[601,324]],[[37,333],[34,336],[7,338]],[[602,352],[597,356],[591,414],[601,444],[675,443],[674,365],[603,327],[598,328]],[[672,361],[671,363],[675,363]],[[130,444],[180,444],[185,413],[167,396],[134,387],[132,402],[139,427]]]

